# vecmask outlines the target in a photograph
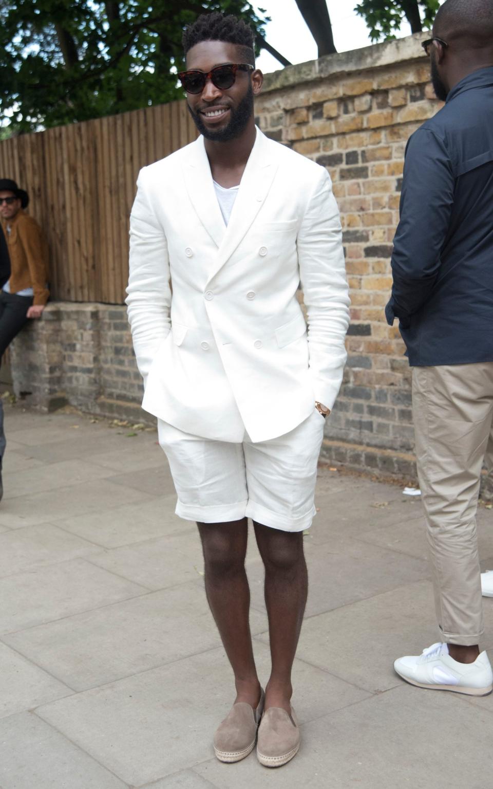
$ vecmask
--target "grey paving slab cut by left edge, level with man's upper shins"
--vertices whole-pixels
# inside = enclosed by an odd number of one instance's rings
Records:
[[[84,559],[0,579],[0,634],[148,593]]]

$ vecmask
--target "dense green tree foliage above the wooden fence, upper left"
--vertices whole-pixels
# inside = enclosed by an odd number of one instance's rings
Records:
[[[245,0],[0,0],[0,121],[30,132],[180,98],[181,33],[206,11],[259,36],[268,20]]]

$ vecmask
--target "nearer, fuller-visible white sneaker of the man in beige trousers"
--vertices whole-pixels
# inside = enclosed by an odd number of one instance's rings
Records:
[[[474,663],[458,663],[446,644],[433,644],[422,655],[400,657],[394,663],[398,675],[420,688],[454,690],[468,696],[487,696],[493,690],[493,672],[487,654]]]

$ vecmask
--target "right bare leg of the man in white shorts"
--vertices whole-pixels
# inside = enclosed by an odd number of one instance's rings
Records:
[[[308,574],[302,532],[282,532],[254,522],[257,544],[265,566],[265,603],[271,641],[271,677],[265,689],[265,708],[291,711],[291,669],[300,638],[308,594]]]

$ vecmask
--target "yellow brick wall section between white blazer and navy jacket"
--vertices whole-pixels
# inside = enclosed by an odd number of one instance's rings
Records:
[[[410,369],[397,325],[383,314],[409,136],[440,103],[422,34],[332,55],[269,75],[260,128],[327,167],[341,211],[351,289],[349,359],[324,453],[413,473]]]

